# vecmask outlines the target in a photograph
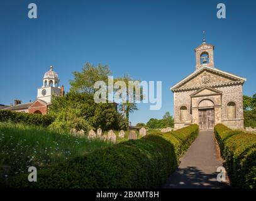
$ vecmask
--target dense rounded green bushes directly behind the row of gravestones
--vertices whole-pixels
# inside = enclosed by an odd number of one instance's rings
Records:
[[[91,94],[69,92],[64,97],[54,97],[49,115],[55,118],[50,129],[57,131],[125,129],[124,120],[114,104],[97,104]]]

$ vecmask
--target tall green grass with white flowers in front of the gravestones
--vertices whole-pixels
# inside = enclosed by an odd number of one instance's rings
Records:
[[[40,126],[0,122],[0,179],[37,169],[57,166],[75,156],[86,155],[110,143],[59,134]]]

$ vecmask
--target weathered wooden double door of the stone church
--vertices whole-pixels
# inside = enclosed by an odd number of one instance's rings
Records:
[[[214,109],[199,109],[199,129],[210,130],[214,128]]]

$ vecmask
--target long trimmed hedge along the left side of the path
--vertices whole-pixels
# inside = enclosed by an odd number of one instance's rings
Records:
[[[198,126],[179,129],[192,143]],[[9,180],[9,187],[25,188],[155,188],[160,187],[179,165],[187,143],[174,134],[147,136],[98,149],[58,166],[38,170],[38,182],[28,175]]]

